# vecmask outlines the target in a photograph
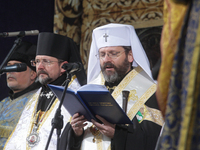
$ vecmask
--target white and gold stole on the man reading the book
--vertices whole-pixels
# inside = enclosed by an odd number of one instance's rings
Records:
[[[104,85],[105,80],[102,73],[95,79],[92,84]],[[139,88],[138,88],[139,87]],[[126,77],[120,82],[112,93],[114,99],[122,107],[122,90],[130,91],[127,107],[127,115],[132,120],[145,102],[155,93],[156,84],[152,79],[142,70],[141,67],[137,67],[129,72]],[[96,136],[97,150],[103,150],[103,144],[109,145],[108,150],[111,149],[108,141],[103,140],[103,135]],[[95,148],[96,149],[96,148]]]

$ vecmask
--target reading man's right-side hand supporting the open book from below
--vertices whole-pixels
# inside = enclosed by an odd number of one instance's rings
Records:
[[[104,134],[105,136],[109,137],[109,138],[113,138],[114,137],[114,133],[115,133],[115,124],[111,124],[108,121],[106,121],[104,118],[96,115],[96,117],[103,122],[103,124],[100,124],[98,122],[96,122],[95,120],[92,119],[92,123],[99,129],[99,131]]]

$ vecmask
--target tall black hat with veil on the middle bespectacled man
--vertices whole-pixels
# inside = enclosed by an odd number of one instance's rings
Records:
[[[37,55],[46,55],[68,61],[68,63],[80,62],[82,64],[78,47],[69,37],[50,32],[42,32],[38,35]],[[86,74],[83,69],[76,73],[81,85],[86,83]]]

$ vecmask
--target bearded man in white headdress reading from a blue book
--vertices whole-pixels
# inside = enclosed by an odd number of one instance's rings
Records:
[[[102,124],[86,122],[76,113],[65,127],[60,149],[154,150],[163,118],[149,61],[133,26],[111,23],[93,30],[87,75],[88,84],[108,88],[133,124],[111,124],[98,115]]]

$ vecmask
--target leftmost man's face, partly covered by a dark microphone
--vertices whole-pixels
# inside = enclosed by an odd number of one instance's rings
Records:
[[[11,60],[7,63],[7,66],[15,65],[21,63],[20,61]],[[27,66],[27,70],[23,72],[8,72],[6,73],[7,86],[17,93],[23,91],[29,87],[36,78],[36,72]]]

